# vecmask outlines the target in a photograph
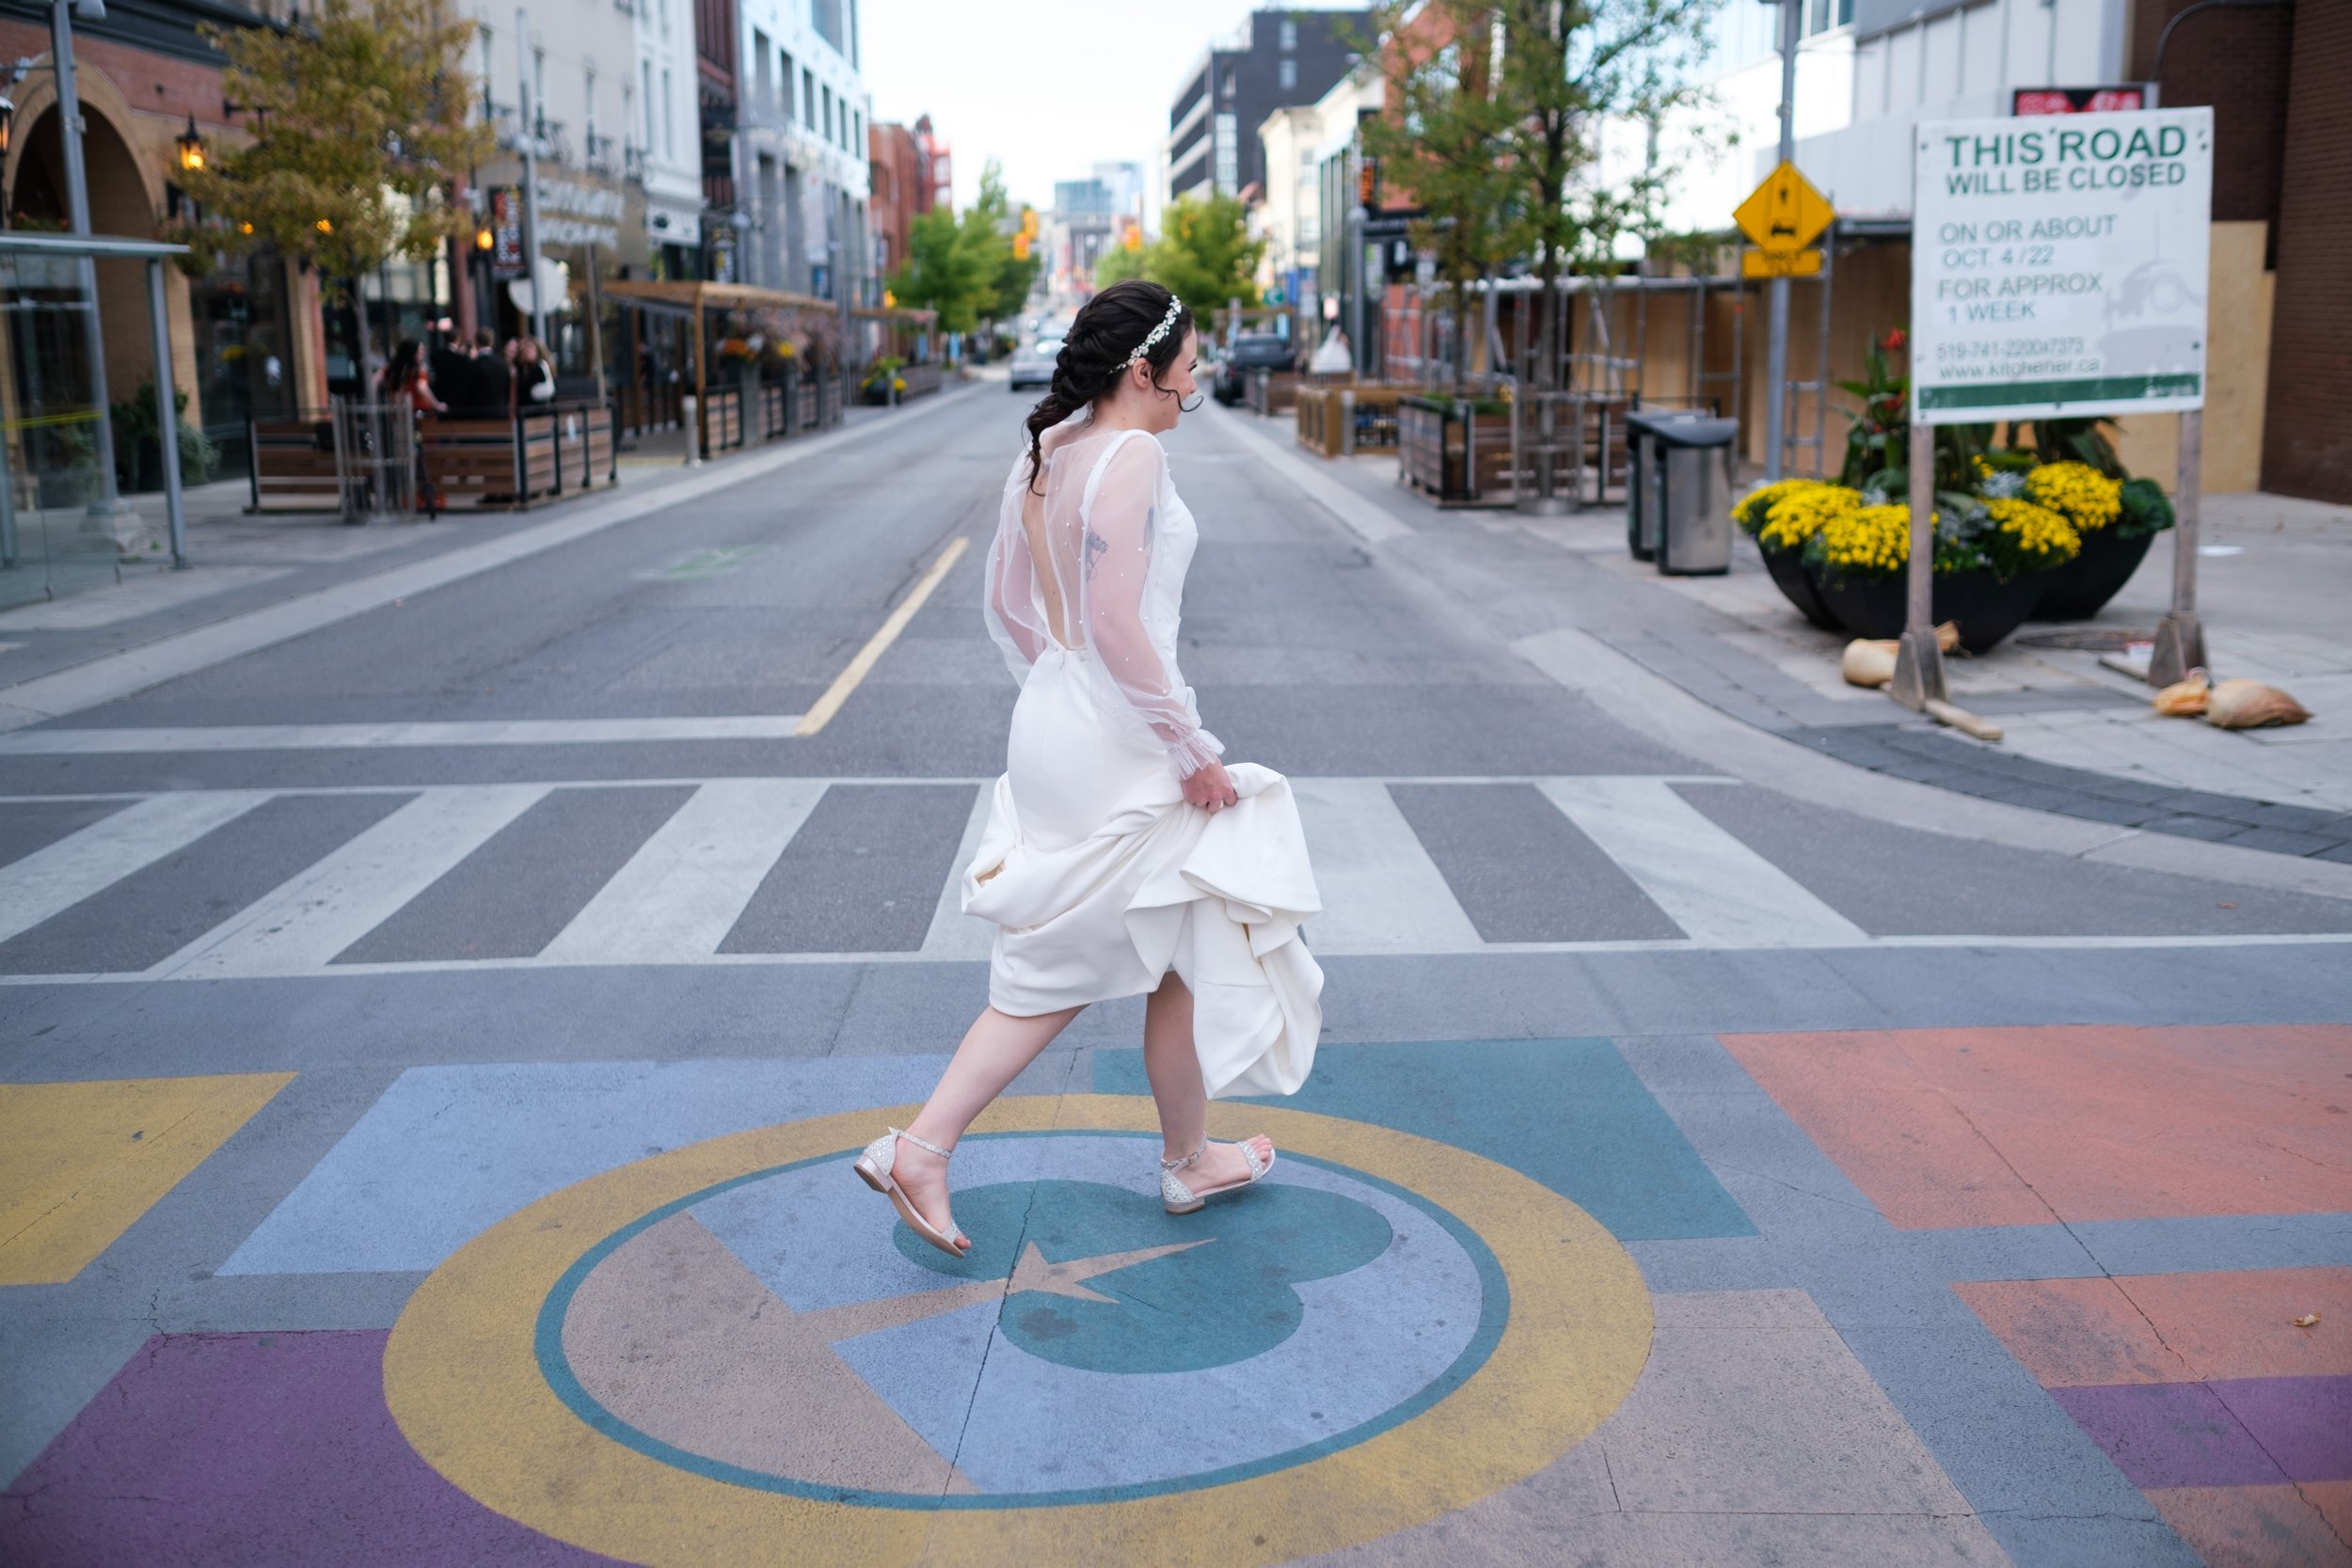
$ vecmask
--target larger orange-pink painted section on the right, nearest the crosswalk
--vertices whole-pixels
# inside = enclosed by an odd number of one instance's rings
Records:
[[[1903,1229],[2352,1211],[2352,1027],[1726,1034]]]

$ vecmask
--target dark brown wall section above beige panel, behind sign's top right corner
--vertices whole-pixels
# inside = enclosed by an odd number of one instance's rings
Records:
[[[2192,0],[2140,0],[2131,19],[2131,75],[2147,80],[2157,38]],[[2324,9],[2324,0],[2310,9]],[[2173,31],[2164,49],[2164,108],[2213,106],[2213,221],[2279,221],[2286,78],[2296,9],[2213,7]],[[2277,228],[2272,228],[2277,233]]]

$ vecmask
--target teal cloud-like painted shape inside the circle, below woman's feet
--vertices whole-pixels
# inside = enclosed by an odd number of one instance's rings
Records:
[[[1296,1284],[1364,1267],[1392,1234],[1352,1197],[1289,1185],[1218,1199],[1214,1215],[1063,1180],[957,1192],[955,1208],[974,1237],[969,1258],[950,1260],[903,1225],[898,1251],[941,1274],[1004,1279],[1030,1244],[1047,1262],[1185,1248],[1087,1281],[1110,1300],[1025,1291],[1004,1302],[1007,1340],[1091,1373],[1202,1373],[1268,1352],[1305,1316]]]

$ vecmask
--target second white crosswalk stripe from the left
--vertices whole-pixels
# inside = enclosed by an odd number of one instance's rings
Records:
[[[325,860],[158,964],[181,980],[308,973],[390,919],[548,785],[428,788]]]

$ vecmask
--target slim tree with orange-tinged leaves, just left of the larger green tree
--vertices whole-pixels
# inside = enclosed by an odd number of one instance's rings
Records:
[[[1470,374],[1470,299],[1510,259],[1517,179],[1501,162],[1508,106],[1494,92],[1491,0],[1388,0],[1371,14],[1385,113],[1364,122],[1364,155],[1421,216],[1409,235],[1430,254],[1454,313],[1454,390]]]

